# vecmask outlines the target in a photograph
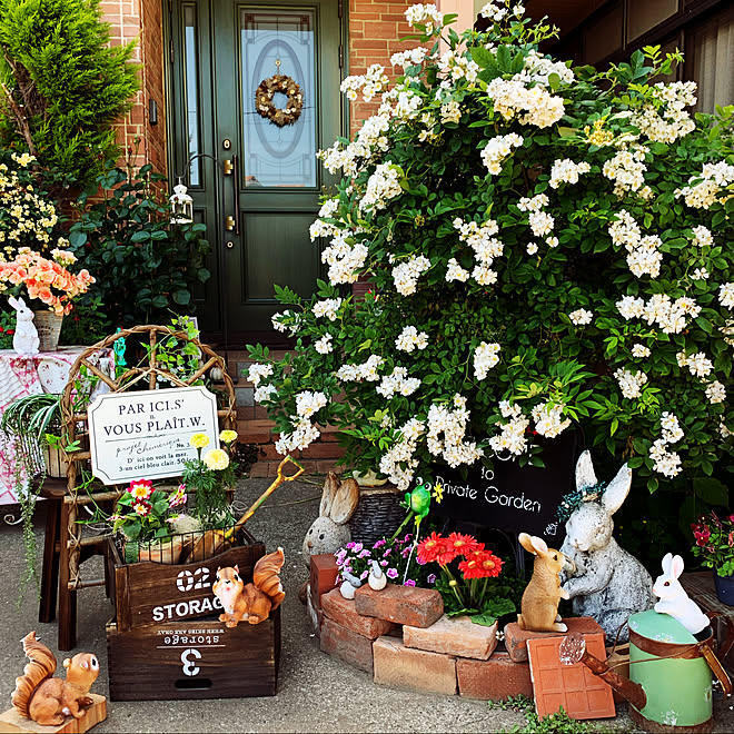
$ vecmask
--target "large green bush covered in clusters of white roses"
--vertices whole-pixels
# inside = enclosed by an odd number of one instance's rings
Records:
[[[347,465],[407,487],[436,463],[540,464],[537,436],[576,429],[651,492],[718,474],[734,108],[693,116],[693,82],[655,82],[678,54],[572,69],[522,6],[482,14],[459,36],[411,7],[419,46],[393,57],[395,86],[380,67],[343,85],[381,105],[319,153],[343,175],[310,230],[328,282],[307,302],[277,288],[282,361],[250,348],[278,450],[331,424]]]

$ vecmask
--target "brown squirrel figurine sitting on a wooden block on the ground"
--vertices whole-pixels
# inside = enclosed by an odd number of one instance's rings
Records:
[[[87,694],[99,675],[97,655],[78,653],[67,657],[63,661],[67,680],[62,681],[51,677],[56,672],[56,657],[38,642],[34,632],[29,632],[22,643],[30,663],[26,664],[23,675],[16,678],[11,696],[18,713],[41,726],[63,724],[69,714],[75,718],[85,716],[86,707],[93,703]]]

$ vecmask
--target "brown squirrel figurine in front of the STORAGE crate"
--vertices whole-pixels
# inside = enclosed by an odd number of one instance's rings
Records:
[[[251,584],[245,584],[237,566],[217,568],[217,581],[211,588],[225,609],[219,622],[236,627],[244,619],[250,624],[267,619],[286,597],[278,576],[285,561],[282,548],[262,556],[255,564]]]

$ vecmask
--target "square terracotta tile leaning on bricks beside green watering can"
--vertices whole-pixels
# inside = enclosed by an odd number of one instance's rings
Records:
[[[584,635],[588,652],[605,658],[604,634]],[[535,708],[540,718],[561,706],[572,718],[613,718],[616,716],[611,686],[596,677],[583,663],[563,665],[558,649],[565,636],[527,641]]]

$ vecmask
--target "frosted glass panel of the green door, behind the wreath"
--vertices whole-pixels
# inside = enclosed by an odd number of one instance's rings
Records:
[[[316,187],[315,28],[308,9],[246,8],[240,13],[247,187]],[[275,75],[300,87],[302,109],[292,125],[279,127],[256,109],[257,88]],[[276,92],[272,101],[285,109],[287,97]]]

